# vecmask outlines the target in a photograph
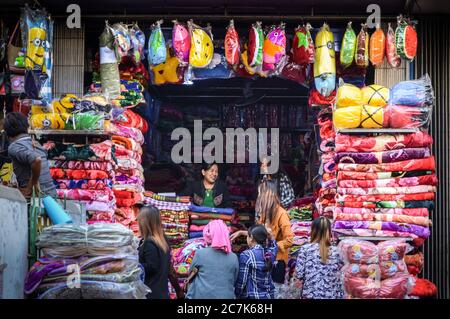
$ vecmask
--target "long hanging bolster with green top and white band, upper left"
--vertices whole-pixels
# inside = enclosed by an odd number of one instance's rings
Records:
[[[100,78],[102,93],[108,100],[113,100],[120,95],[120,75],[117,57],[114,53],[114,32],[105,23],[105,29],[100,35]]]

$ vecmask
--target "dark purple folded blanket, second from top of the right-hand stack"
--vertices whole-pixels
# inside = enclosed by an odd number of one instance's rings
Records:
[[[429,157],[429,148],[404,148],[383,152],[340,152],[336,153],[336,163],[381,164]]]

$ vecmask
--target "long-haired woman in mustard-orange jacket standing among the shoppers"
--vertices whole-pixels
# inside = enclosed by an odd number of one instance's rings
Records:
[[[289,258],[289,249],[294,241],[294,233],[291,230],[289,215],[280,204],[276,184],[273,180],[263,180],[259,185],[255,210],[259,213],[257,222],[265,225],[271,237],[277,242],[278,252],[272,270],[272,279],[275,288],[279,289],[285,281],[286,265]],[[231,240],[247,235],[248,231],[241,230],[234,233]]]

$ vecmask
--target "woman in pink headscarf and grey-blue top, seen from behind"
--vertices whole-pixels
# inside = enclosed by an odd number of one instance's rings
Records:
[[[234,284],[239,273],[239,262],[231,252],[229,236],[222,220],[213,220],[203,229],[207,247],[198,250],[192,260],[187,299],[235,298]]]

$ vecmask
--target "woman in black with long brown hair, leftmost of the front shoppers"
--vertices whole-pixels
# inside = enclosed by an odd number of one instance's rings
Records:
[[[142,237],[139,245],[139,263],[144,267],[144,283],[151,289],[147,298],[168,299],[169,280],[177,292],[177,297],[183,298],[183,291],[171,263],[170,247],[164,236],[159,210],[154,206],[142,207],[138,223]]]

